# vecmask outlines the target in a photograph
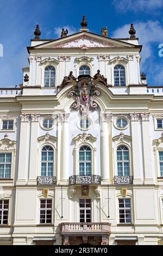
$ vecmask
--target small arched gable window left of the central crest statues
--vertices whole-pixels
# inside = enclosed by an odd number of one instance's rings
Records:
[[[44,87],[55,87],[55,68],[47,66],[44,72]]]

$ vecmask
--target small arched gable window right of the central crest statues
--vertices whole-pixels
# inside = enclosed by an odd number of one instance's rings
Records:
[[[114,85],[126,86],[125,69],[122,65],[116,65],[114,68]]]

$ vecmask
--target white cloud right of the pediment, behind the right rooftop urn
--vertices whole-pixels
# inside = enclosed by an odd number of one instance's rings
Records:
[[[159,21],[149,20],[147,22],[134,22],[136,36],[142,47],[141,69],[147,71],[149,76],[153,75],[153,81],[163,83],[163,66],[158,62],[159,44],[163,43],[163,27]],[[119,27],[112,33],[114,38],[126,38],[129,36],[130,24]],[[156,48],[154,48],[156,47]],[[157,56],[155,55],[157,54]],[[157,59],[157,62],[155,62]],[[160,59],[161,60],[161,59]],[[148,77],[147,77],[148,78]]]

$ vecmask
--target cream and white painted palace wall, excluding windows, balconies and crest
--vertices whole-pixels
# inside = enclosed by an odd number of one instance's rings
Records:
[[[80,221],[80,198],[91,199],[92,223],[111,224],[110,245],[130,239],[139,245],[157,245],[163,240],[163,177],[158,156],[163,149],[163,129],[156,128],[156,118],[162,118],[163,95],[161,90],[159,95],[149,94],[147,84],[141,81],[140,48],[131,45],[137,46],[136,40],[99,40],[98,35],[80,32],[59,41],[32,41],[36,48],[29,49],[29,72],[24,70],[29,81],[23,82],[17,93],[1,91],[0,153],[12,153],[12,164],[11,179],[0,179],[0,200],[9,199],[8,224],[1,225],[0,244],[34,245],[37,240],[52,240],[61,245],[59,225]],[[114,86],[114,66],[118,64],[125,68],[126,87]],[[56,70],[55,88],[43,87],[44,70],[49,65]],[[70,71],[78,77],[82,65],[90,67],[91,76],[101,70],[109,85],[98,83],[98,108],[89,112],[91,127],[85,131],[95,140],[87,142],[77,138],[84,130],[79,128],[82,115],[72,109],[74,99],[67,96],[72,84],[57,88]],[[51,130],[42,127],[46,117],[54,119]],[[126,129],[117,128],[118,117],[128,120]],[[14,130],[3,131],[2,120],[10,118],[14,119]],[[82,196],[81,185],[68,185],[69,177],[79,174],[78,151],[85,144],[92,150],[92,174],[102,178],[101,185],[90,185],[87,197]],[[45,145],[54,150],[54,186],[37,185]],[[134,177],[131,185],[114,185],[119,145],[129,149],[130,175]],[[44,188],[48,188],[47,198],[52,199],[50,225],[40,224]],[[127,189],[125,197],[122,188]],[[120,198],[131,199],[130,224],[120,223]]]

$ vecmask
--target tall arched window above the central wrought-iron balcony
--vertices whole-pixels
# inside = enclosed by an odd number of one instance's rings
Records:
[[[79,175],[91,175],[91,149],[83,146],[79,149]]]

